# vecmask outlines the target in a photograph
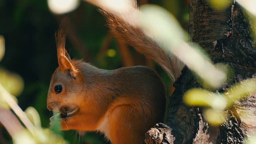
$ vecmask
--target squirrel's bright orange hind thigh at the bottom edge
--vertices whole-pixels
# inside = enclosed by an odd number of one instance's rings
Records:
[[[142,119],[143,115],[138,113],[135,106],[116,106],[110,115],[112,144],[143,144],[144,134],[149,128]]]

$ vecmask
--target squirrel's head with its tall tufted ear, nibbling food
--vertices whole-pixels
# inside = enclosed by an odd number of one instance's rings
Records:
[[[81,113],[80,107],[83,96],[80,95],[84,90],[84,76],[78,67],[81,61],[71,60],[65,50],[66,35],[65,30],[62,28],[63,26],[60,26],[60,29],[55,34],[59,67],[52,75],[47,96],[47,108],[50,111],[58,111],[58,115],[60,115],[63,120],[74,117],[70,120],[75,123],[77,121],[76,119],[79,119],[77,115]],[[56,116],[52,118],[54,117]],[[69,125],[66,126],[66,129],[76,128]]]

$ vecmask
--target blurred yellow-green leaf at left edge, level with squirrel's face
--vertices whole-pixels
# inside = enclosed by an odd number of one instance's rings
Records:
[[[13,96],[21,94],[24,88],[22,77],[0,68],[0,83]]]

